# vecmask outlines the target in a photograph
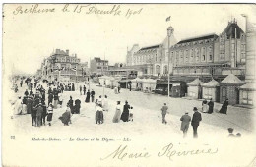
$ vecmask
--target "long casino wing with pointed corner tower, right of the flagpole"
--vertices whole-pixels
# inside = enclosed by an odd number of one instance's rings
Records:
[[[174,76],[245,75],[246,36],[236,21],[220,34],[179,41],[171,47]]]

